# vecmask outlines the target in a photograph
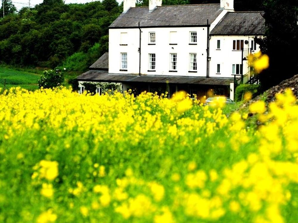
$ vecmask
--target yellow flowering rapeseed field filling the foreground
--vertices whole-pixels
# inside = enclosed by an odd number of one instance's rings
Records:
[[[297,222],[297,99],[276,98],[247,120],[184,92],[10,89],[0,222]]]

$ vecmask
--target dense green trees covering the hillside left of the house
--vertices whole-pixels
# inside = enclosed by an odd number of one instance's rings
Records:
[[[44,0],[30,10],[22,8],[0,19],[0,62],[55,67],[78,51],[86,53],[86,61],[94,60],[107,50],[108,26],[121,12],[116,0]],[[96,43],[103,49],[89,53]]]

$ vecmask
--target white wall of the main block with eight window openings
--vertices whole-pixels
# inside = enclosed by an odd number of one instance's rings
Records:
[[[177,45],[169,45],[170,32],[177,32]],[[190,32],[197,32],[197,45],[189,45]],[[120,45],[120,33],[127,32],[127,45]],[[155,32],[156,45],[148,45],[149,32]],[[109,29],[109,73],[139,74],[139,29]],[[207,27],[142,28],[141,74],[206,76]],[[127,53],[127,71],[121,70],[120,53]],[[156,72],[148,72],[148,54],[156,55]],[[177,71],[170,70],[170,53],[177,54]],[[197,73],[189,73],[190,53],[197,54]]]

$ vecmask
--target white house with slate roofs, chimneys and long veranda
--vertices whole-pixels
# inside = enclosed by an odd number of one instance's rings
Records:
[[[233,99],[234,77],[250,78],[246,59],[259,51],[254,37],[265,33],[262,13],[235,12],[233,0],[173,6],[150,0],[149,7],[124,0],[109,26],[109,52],[77,77],[80,87],[119,82],[124,91],[185,90]]]

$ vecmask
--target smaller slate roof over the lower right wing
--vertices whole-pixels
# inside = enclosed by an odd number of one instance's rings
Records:
[[[211,35],[265,35],[264,12],[228,12]]]

